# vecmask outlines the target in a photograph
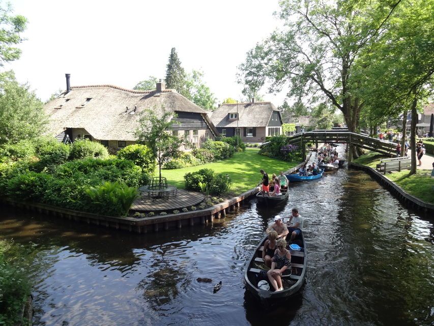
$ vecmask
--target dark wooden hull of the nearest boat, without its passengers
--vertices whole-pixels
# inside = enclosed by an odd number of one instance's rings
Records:
[[[267,272],[264,261],[262,259],[262,251],[264,249],[264,242],[267,236],[256,247],[247,268],[244,270],[244,284],[246,289],[258,298],[265,307],[269,307],[275,303],[282,302],[286,298],[294,296],[300,291],[306,274],[307,251],[306,242],[304,241],[303,233],[298,237],[295,242],[300,243],[301,250],[290,250],[291,253],[291,266],[292,274],[289,277],[283,278],[283,290],[275,292],[270,285],[270,290],[263,290],[257,287],[259,282],[258,277],[261,275],[262,270]]]

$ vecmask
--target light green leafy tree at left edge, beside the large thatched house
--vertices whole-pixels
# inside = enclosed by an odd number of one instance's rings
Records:
[[[0,145],[32,139],[44,131],[43,104],[12,71],[0,74]]]

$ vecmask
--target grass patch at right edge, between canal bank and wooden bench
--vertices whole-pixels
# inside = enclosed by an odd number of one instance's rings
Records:
[[[434,204],[434,178],[431,178],[431,170],[417,170],[417,174],[408,175],[409,170],[404,170],[388,173],[386,177],[410,195]]]

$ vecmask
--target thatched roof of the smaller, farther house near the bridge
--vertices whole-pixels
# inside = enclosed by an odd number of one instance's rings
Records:
[[[229,120],[229,113],[237,113],[237,120]],[[216,127],[266,127],[270,121],[273,111],[279,112],[279,119],[282,123],[280,111],[271,102],[221,104],[213,111],[211,120]]]

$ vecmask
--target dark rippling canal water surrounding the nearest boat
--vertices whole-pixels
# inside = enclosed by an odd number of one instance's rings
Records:
[[[266,311],[246,293],[244,268],[274,215],[292,207],[304,218],[306,283]],[[340,169],[291,184],[286,205],[252,200],[206,226],[138,235],[4,207],[0,235],[37,250],[34,325],[432,325],[428,218]]]

